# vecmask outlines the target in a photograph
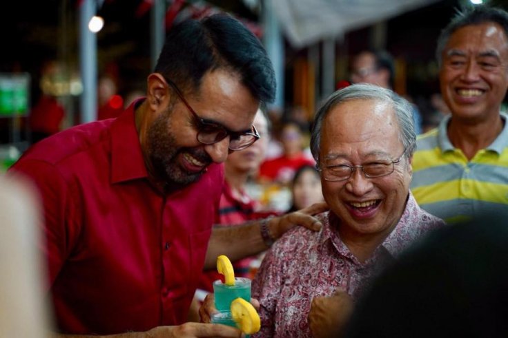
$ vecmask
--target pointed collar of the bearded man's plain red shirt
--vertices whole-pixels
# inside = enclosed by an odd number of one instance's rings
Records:
[[[112,183],[148,178],[135,125],[135,107],[142,101],[133,102],[111,125]]]

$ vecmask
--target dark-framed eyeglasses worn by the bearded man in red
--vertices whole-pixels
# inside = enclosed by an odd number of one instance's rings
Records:
[[[197,128],[196,138],[204,145],[213,145],[214,143],[220,142],[229,136],[229,149],[237,151],[252,145],[261,137],[254,125],[252,126],[251,131],[231,131],[223,125],[209,122],[204,118],[199,117],[194,109],[190,107],[177,85],[168,78],[165,78],[165,80],[171,87],[173,87],[173,89],[175,89],[175,92],[180,100],[182,100],[188,111],[192,113]]]

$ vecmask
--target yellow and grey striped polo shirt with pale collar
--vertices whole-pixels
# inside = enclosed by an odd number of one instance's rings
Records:
[[[471,159],[447,136],[450,116],[420,136],[411,191],[425,211],[448,223],[508,210],[508,116],[501,134]]]

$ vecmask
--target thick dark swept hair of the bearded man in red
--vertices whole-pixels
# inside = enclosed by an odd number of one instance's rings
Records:
[[[228,14],[175,25],[155,65],[184,91],[196,92],[206,72],[224,68],[240,75],[261,103],[275,98],[275,72],[263,45],[240,21]]]

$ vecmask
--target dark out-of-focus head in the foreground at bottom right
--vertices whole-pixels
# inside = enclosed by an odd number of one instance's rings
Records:
[[[508,337],[508,212],[438,229],[359,302],[346,337]]]

